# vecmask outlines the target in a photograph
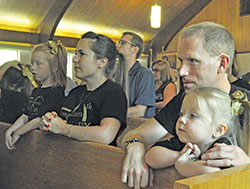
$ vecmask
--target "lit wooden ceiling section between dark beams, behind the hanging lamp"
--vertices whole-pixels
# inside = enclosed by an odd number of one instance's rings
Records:
[[[183,10],[191,1],[157,1],[157,4],[162,7],[162,25],[170,22],[176,13]],[[64,33],[67,36],[79,37],[84,32],[94,30],[112,39],[119,39],[124,31],[133,31],[142,36],[146,42],[160,31],[150,27],[151,6],[154,4],[152,0],[109,0],[108,2],[74,0],[60,22],[65,28],[58,28],[56,35]],[[73,28],[78,28],[78,36],[71,35],[74,33]]]

